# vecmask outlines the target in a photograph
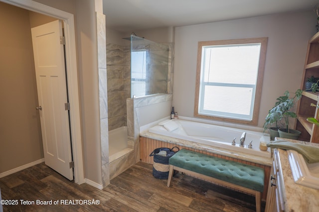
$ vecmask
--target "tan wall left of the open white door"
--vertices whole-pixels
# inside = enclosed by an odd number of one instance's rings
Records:
[[[2,173],[43,158],[43,147],[29,13],[0,2],[0,26]]]

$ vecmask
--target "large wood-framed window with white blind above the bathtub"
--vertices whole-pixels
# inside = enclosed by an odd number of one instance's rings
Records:
[[[195,116],[257,125],[267,38],[198,43]]]

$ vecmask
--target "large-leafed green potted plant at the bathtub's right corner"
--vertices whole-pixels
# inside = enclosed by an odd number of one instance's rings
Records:
[[[293,97],[290,97],[289,91],[285,91],[283,96],[277,98],[275,106],[269,110],[266,116],[264,129],[267,130],[274,124],[277,125],[280,121],[284,121],[285,128],[278,129],[279,137],[286,139],[298,139],[301,135],[300,131],[290,129],[289,121],[290,118],[296,118],[297,114],[291,109],[294,107],[295,103],[301,98],[303,90],[298,89]]]

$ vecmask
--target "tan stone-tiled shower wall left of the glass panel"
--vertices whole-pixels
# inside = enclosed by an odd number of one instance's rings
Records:
[[[107,43],[109,131],[126,126],[126,99],[131,96],[131,50]]]

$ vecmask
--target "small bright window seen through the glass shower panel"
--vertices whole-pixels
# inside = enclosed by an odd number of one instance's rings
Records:
[[[145,96],[146,93],[146,51],[131,52],[131,94]]]

